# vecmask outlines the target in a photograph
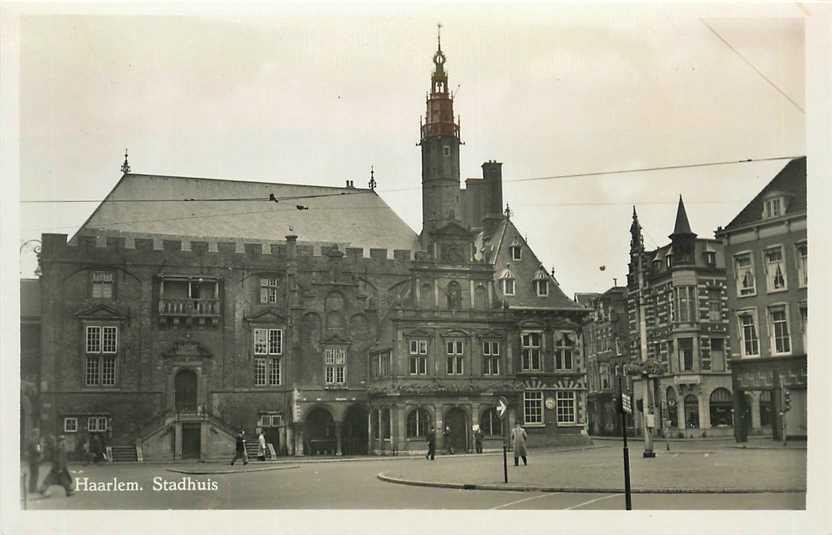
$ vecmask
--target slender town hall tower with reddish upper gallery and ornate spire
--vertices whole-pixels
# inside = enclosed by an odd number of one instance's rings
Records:
[[[440,26],[441,28],[441,26]],[[456,221],[462,224],[459,188],[459,120],[454,122],[454,99],[448,92],[448,73],[441,36],[433,55],[430,94],[424,121],[420,118],[422,148],[422,241],[433,231]]]

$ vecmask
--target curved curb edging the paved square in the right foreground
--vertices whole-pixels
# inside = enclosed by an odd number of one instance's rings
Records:
[[[395,483],[397,485],[411,485],[414,487],[436,487],[443,489],[462,489],[462,490],[501,490],[514,492],[564,492],[564,493],[580,493],[580,494],[623,494],[624,489],[621,488],[601,488],[601,487],[543,487],[534,485],[497,485],[493,483],[479,484],[479,483],[445,483],[433,481],[416,481],[411,479],[402,479],[394,477],[384,472],[380,472],[378,479],[387,483]],[[632,489],[632,494],[786,494],[786,493],[800,493],[806,492],[806,489],[774,489],[774,490],[760,490],[748,488],[653,488],[653,489]]]

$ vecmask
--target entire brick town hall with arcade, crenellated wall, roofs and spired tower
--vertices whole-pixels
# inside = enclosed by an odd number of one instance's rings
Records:
[[[419,235],[374,176],[241,182],[126,159],[74,237],[45,234],[47,430],[139,460],[230,455],[240,428],[278,455],[424,451],[431,429],[467,451],[475,426],[498,447],[515,421],[531,446],[588,441],[586,310],[502,211],[501,163],[460,189],[441,46],[433,63]]]

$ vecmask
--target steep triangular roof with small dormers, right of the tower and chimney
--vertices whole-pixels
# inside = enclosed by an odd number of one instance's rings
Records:
[[[509,308],[518,309],[556,309],[556,310],[584,310],[584,307],[566,296],[544,266],[546,279],[549,280],[549,295],[538,297],[533,281],[539,274],[541,262],[520,231],[510,219],[504,218],[494,230],[479,233],[476,244],[483,259],[494,266],[494,273],[501,277],[505,270],[511,271],[515,279],[515,295],[504,296]],[[510,247],[519,244],[522,247],[522,259],[511,259]]]

